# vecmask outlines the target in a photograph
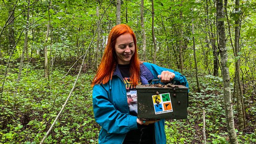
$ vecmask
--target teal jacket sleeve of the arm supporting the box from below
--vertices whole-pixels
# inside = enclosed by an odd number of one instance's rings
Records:
[[[137,117],[118,111],[110,102],[109,94],[109,90],[102,84],[93,87],[92,102],[96,122],[108,133],[124,134],[137,129]]]

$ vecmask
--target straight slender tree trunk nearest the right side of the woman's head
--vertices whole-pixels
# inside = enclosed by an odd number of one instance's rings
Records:
[[[144,0],[140,0],[140,25],[142,33],[142,60],[147,60],[146,57],[146,33],[144,28]]]

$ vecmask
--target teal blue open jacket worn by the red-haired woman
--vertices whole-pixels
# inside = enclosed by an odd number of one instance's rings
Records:
[[[182,84],[188,87],[186,77],[179,72],[146,62],[140,64],[141,83],[148,84],[151,80],[158,79],[157,76],[162,71],[175,73],[172,84]],[[99,144],[122,144],[127,132],[138,129],[137,116],[129,114],[126,88],[118,68],[113,73],[112,80],[93,87],[92,101],[95,120],[101,126]],[[156,144],[165,144],[164,120],[154,125]]]

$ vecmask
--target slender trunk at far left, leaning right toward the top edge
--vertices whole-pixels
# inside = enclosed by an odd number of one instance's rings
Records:
[[[29,24],[29,11],[30,11],[30,0],[28,0],[28,14],[27,14],[27,22],[26,22],[26,27],[28,27]],[[21,72],[22,72],[22,68],[23,68],[23,61],[24,61],[24,54],[25,54],[25,50],[28,47],[28,28],[26,28],[25,30],[25,39],[24,39],[24,46],[23,46],[23,50],[21,53],[21,57],[20,57],[20,66],[19,66],[19,73],[18,73],[18,78],[17,78],[17,84],[20,83],[20,77],[21,77]],[[16,86],[16,90],[17,90],[17,86]]]

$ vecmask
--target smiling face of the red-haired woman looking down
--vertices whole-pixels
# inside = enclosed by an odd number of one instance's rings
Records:
[[[132,35],[125,33],[117,37],[115,50],[118,64],[130,64],[130,60],[135,51]]]

